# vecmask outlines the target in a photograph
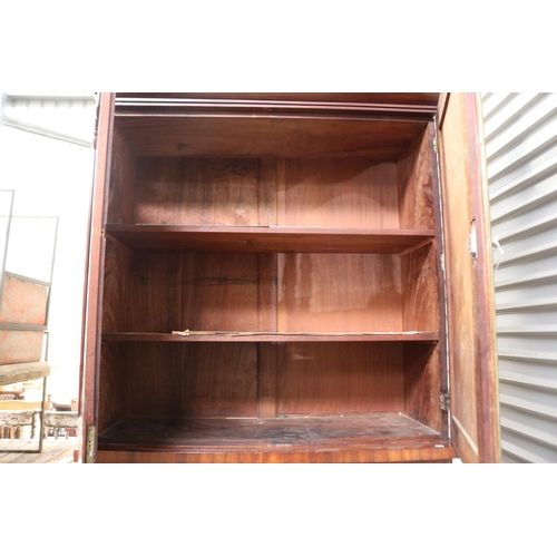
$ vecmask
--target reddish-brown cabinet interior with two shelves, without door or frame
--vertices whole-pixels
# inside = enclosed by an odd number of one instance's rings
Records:
[[[446,440],[433,131],[117,113],[99,450]]]

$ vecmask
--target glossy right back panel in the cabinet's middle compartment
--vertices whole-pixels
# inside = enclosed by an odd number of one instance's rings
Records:
[[[280,254],[278,331],[402,331],[400,257]]]

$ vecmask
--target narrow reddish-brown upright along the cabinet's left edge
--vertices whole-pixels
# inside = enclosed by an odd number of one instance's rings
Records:
[[[98,370],[100,362],[100,271],[105,258],[102,226],[106,213],[106,189],[110,170],[113,143],[114,94],[101,94],[97,106],[95,137],[95,173],[89,211],[89,238],[86,262],[85,312],[81,340],[79,384],[79,462],[95,462],[97,453]]]

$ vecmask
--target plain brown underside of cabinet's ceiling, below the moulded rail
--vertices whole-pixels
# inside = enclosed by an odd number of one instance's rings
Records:
[[[235,116],[117,117],[140,156],[395,160],[426,121]]]

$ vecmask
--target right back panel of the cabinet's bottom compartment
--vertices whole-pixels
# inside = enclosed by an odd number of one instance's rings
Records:
[[[280,414],[403,410],[402,352],[392,343],[291,343]]]

